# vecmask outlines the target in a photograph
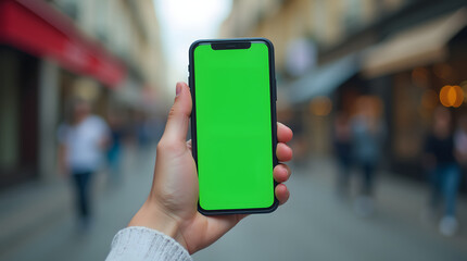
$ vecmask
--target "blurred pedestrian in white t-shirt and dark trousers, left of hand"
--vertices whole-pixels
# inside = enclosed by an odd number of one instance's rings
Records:
[[[91,114],[91,107],[84,99],[74,100],[71,121],[59,127],[59,164],[62,174],[72,177],[83,228],[90,224],[91,182],[102,163],[109,133],[105,122]]]

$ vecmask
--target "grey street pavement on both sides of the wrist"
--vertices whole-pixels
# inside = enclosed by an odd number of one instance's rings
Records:
[[[62,186],[54,200],[38,198],[41,208],[51,210],[48,219],[37,220],[35,208],[29,207],[22,214],[30,219],[34,229],[13,240],[5,240],[4,232],[0,235],[0,260],[103,260],[115,233],[146,199],[152,178],[153,150],[127,150],[124,159],[118,187],[106,185],[103,175],[98,177],[97,219],[88,232],[75,226],[73,201]],[[332,160],[312,159],[306,170],[294,171],[287,204],[273,214],[247,217],[212,247],[195,253],[194,260],[466,260],[465,227],[457,236],[445,238],[438,234],[434,221],[421,221],[428,192],[422,184],[379,173],[376,213],[364,219],[354,213],[351,200],[337,197]],[[10,202],[21,202],[22,197],[47,197],[47,191],[9,196]],[[0,208],[10,206],[1,202]],[[465,198],[458,217],[467,220]],[[2,219],[3,227],[24,222],[10,219],[5,224],[5,216]]]

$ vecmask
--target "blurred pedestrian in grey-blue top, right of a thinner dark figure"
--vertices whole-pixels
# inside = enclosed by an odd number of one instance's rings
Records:
[[[353,156],[362,176],[361,194],[355,201],[355,211],[362,216],[367,216],[375,208],[375,171],[386,129],[381,121],[382,105],[377,97],[362,96],[355,105],[356,113],[352,119]]]

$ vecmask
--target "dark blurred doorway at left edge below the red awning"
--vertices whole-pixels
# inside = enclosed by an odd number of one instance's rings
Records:
[[[2,189],[37,175],[39,60],[8,47],[0,57]]]

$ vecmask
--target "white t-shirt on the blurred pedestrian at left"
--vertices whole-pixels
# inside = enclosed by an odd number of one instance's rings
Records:
[[[73,174],[96,172],[103,160],[110,129],[99,116],[89,115],[76,125],[62,124],[59,141],[66,148],[65,163]]]

